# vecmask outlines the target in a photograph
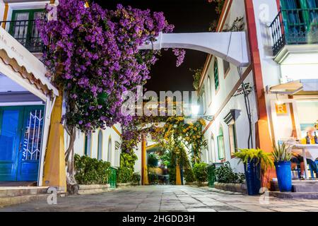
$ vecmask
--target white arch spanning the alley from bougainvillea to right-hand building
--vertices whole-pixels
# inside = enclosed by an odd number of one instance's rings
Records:
[[[139,49],[194,49],[225,59],[235,66],[248,66],[249,51],[245,32],[160,33],[153,43]]]

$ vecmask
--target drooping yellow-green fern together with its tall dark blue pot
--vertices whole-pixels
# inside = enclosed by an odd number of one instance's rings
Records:
[[[266,170],[268,167],[273,167],[273,160],[270,157],[271,153],[265,153],[264,150],[257,149],[239,149],[234,154],[235,157],[243,162],[245,167],[245,178],[247,184],[247,193],[249,196],[259,194],[261,189],[261,169]]]

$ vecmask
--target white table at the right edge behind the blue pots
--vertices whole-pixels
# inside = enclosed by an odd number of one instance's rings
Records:
[[[307,174],[307,158],[311,160],[316,160],[318,157],[318,144],[295,144],[293,145],[293,152],[298,153],[304,157],[304,165],[305,165],[305,178],[308,179],[309,176]],[[298,152],[298,150],[301,152]]]

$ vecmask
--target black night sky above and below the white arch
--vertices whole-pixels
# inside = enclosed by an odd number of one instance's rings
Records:
[[[214,4],[208,0],[95,0],[104,8],[115,8],[117,4],[134,8],[163,11],[168,23],[175,25],[174,32],[207,32],[209,24],[216,18]],[[147,90],[186,91],[194,90],[193,77],[189,69],[204,66],[206,54],[187,49],[184,63],[176,67],[176,57],[171,49],[162,52],[162,57],[151,69]]]

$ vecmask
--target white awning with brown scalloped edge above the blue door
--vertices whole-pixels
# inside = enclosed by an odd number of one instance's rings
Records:
[[[14,81],[27,79],[31,85],[42,90],[45,95],[59,95],[57,88],[45,76],[47,73],[45,65],[4,28],[0,28],[0,61],[2,64],[11,66],[16,76],[13,73],[10,73],[11,75],[4,73],[4,75],[9,78],[17,77],[11,78]],[[18,73],[20,76],[17,76]]]

